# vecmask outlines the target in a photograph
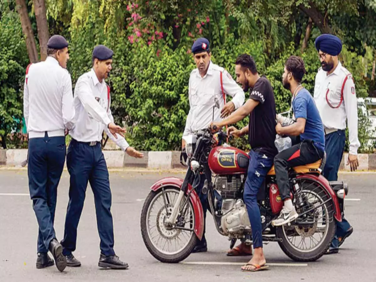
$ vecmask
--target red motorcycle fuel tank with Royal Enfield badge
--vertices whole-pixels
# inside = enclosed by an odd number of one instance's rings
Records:
[[[218,146],[210,151],[208,164],[215,174],[247,173],[249,156],[230,146]]]

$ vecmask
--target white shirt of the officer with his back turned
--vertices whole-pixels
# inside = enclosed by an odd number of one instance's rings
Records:
[[[71,76],[53,57],[30,65],[24,84],[24,117],[29,138],[64,136],[72,129],[74,108]]]

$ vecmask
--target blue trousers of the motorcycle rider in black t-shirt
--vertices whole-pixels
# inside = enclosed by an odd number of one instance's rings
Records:
[[[244,185],[244,203],[252,228],[253,248],[262,247],[261,214],[257,205],[257,193],[264,182],[270,168],[273,166],[273,157],[251,150],[246,184]]]

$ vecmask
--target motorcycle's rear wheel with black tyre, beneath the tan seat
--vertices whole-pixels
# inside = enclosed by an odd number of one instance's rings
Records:
[[[314,203],[317,203],[317,206],[320,204],[323,204],[326,202],[329,198],[327,193],[324,191],[324,189],[317,183],[312,182],[312,180],[303,180],[302,181],[302,187],[303,193],[310,199],[314,198]],[[309,196],[313,195],[313,196]],[[299,214],[302,214],[302,211],[298,211]],[[324,253],[329,248],[334,235],[335,235],[335,219],[334,219],[334,205],[332,200],[328,200],[326,203],[324,203],[321,207],[315,209],[312,212],[309,212],[308,215],[313,216],[315,213],[316,221],[314,224],[311,225],[311,227],[307,225],[298,225],[294,226],[293,224],[291,226],[281,226],[277,227],[276,233],[277,237],[282,239],[282,242],[278,242],[280,248],[282,251],[291,259],[294,261],[316,261],[317,259],[321,258],[321,256],[324,255]],[[322,219],[319,220],[320,216],[322,215]],[[302,218],[297,218],[297,221],[304,222]],[[318,222],[320,221],[320,222]],[[319,226],[320,225],[320,226]],[[323,237],[320,238],[320,231],[323,230]],[[319,231],[319,232],[317,232]],[[297,234],[298,237],[300,235],[300,238],[302,243],[300,247],[300,243],[296,246],[294,239],[290,238],[292,235]],[[320,240],[317,240],[317,236]],[[306,238],[311,238],[311,241],[308,244],[306,243]],[[298,239],[299,242],[299,239]],[[312,243],[313,242],[313,243]],[[313,244],[318,243],[317,246],[311,247]]]

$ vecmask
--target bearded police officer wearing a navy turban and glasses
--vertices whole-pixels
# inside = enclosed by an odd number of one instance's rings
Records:
[[[323,34],[315,41],[321,68],[315,79],[314,100],[325,130],[326,164],[323,176],[329,181],[338,178],[338,169],[346,141],[346,119],[349,127],[350,150],[347,165],[358,168],[358,107],[355,84],[351,73],[338,60],[342,42],[337,36]],[[343,217],[337,222],[337,232],[328,253],[338,253],[338,247],[349,237],[353,228]]]

